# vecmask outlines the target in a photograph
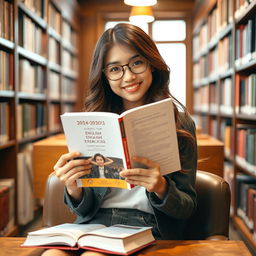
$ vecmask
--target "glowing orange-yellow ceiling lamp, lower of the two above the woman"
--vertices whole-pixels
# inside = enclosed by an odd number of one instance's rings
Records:
[[[154,21],[151,6],[133,6],[130,14],[130,22],[132,23],[149,23]]]

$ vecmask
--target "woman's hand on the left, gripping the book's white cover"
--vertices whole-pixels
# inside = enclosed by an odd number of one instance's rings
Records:
[[[68,193],[76,201],[81,201],[82,199],[82,188],[77,187],[76,179],[89,174],[92,168],[91,162],[88,159],[74,160],[74,158],[79,156],[79,152],[61,155],[53,167],[55,175],[65,184]]]

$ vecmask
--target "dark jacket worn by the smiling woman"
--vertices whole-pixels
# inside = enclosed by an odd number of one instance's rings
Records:
[[[195,137],[195,125],[192,119],[184,118],[183,115],[181,118],[183,129],[187,130]],[[188,147],[187,144],[184,144],[182,139],[179,139],[178,143],[180,154],[187,151],[186,153],[191,155],[186,162],[182,161],[181,158],[182,169],[186,171],[177,171],[165,175],[169,189],[163,200],[160,200],[155,193],[146,191],[162,239],[168,240],[183,239],[182,233],[186,219],[191,216],[196,208],[196,140],[192,147]],[[108,188],[84,188],[83,199],[79,204],[76,204],[68,193],[65,192],[65,203],[77,214],[76,223],[86,223],[95,216],[102,204],[102,200],[104,200],[107,190]]]

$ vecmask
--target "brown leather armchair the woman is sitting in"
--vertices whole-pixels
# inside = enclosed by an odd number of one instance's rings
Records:
[[[197,171],[197,210],[187,222],[184,238],[187,240],[228,239],[230,189],[223,178]],[[73,222],[75,215],[63,202],[63,184],[50,175],[47,180],[43,226],[50,227]]]

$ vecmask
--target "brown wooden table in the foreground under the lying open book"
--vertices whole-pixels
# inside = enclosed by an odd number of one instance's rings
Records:
[[[21,248],[24,237],[0,238],[0,256],[38,256],[43,249]],[[250,256],[242,241],[157,241],[156,244],[137,252],[137,256]]]

